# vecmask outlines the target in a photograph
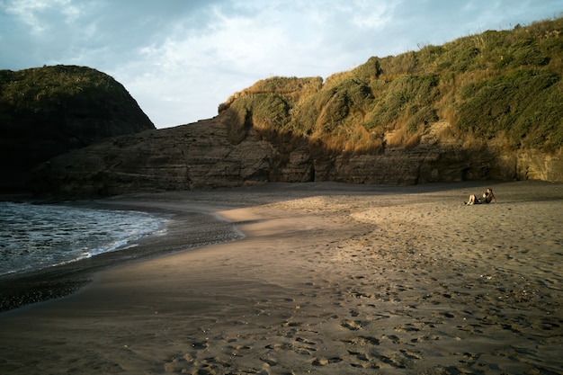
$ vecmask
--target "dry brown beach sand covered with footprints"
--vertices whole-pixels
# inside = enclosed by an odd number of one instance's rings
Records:
[[[463,206],[489,186],[498,203]],[[87,204],[172,221],[129,251],[145,256],[78,270],[92,280],[78,292],[0,313],[0,373],[563,373],[561,183],[271,183]],[[218,216],[193,231],[188,212]],[[243,239],[209,241],[233,224]]]

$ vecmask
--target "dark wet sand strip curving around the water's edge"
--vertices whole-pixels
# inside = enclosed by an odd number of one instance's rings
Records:
[[[23,308],[28,305],[59,299],[76,293],[88,285],[95,273],[120,267],[133,262],[142,262],[168,254],[189,251],[201,246],[236,241],[243,237],[234,225],[204,211],[179,211],[172,209],[131,206],[126,202],[73,201],[60,203],[68,207],[99,210],[140,210],[166,220],[165,233],[154,233],[132,241],[123,248],[95,254],[76,261],[52,265],[30,272],[14,272],[0,276],[0,313]],[[186,229],[187,228],[187,229]],[[210,229],[212,228],[212,229]],[[177,237],[178,231],[190,237],[190,243],[171,244],[166,240]],[[201,236],[197,231],[203,231]]]

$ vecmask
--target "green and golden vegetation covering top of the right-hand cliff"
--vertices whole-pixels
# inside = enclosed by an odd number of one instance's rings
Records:
[[[265,79],[219,112],[234,113],[234,134],[254,127],[335,152],[414,147],[438,122],[449,124],[443,138],[466,144],[495,140],[553,151],[563,147],[562,72],[559,18],[372,57],[324,83],[321,77]]]

